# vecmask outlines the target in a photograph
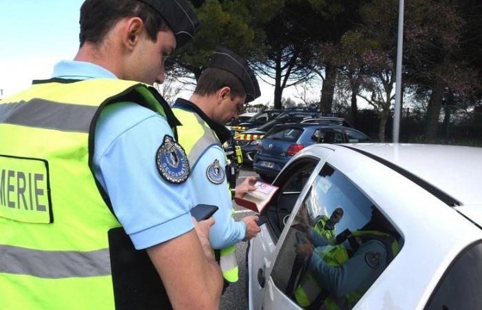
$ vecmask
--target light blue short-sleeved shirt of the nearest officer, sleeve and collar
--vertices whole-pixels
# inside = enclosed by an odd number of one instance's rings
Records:
[[[109,70],[83,61],[57,63],[52,77],[117,79]],[[167,183],[156,167],[156,153],[166,134],[174,136],[165,118],[129,102],[105,107],[96,125],[94,174],[136,249],[193,229],[189,179]]]

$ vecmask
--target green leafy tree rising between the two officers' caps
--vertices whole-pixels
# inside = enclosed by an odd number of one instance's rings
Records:
[[[192,43],[171,56],[166,70],[176,77],[192,74],[197,80],[218,45],[252,59],[265,37],[260,24],[271,19],[284,1],[189,1],[200,19],[201,28]]]

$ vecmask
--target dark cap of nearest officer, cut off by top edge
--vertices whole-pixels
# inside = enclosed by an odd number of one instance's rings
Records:
[[[166,21],[176,37],[176,49],[181,48],[198,32],[201,23],[185,0],[138,0],[154,8]]]

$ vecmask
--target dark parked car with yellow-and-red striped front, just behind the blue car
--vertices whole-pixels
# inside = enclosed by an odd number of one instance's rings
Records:
[[[235,134],[233,138],[235,143],[241,147],[243,162],[248,164],[253,163],[254,155],[256,152],[258,152],[258,143],[260,142],[260,138],[262,138],[266,132],[269,132],[271,128],[275,127],[275,125],[299,123],[304,118],[306,118],[306,115],[294,114],[289,116],[289,114],[285,114],[285,116],[282,118],[274,118],[258,128],[253,128],[251,130],[246,130],[244,132]]]

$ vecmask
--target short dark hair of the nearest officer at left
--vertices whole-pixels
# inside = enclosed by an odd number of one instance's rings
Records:
[[[85,42],[101,43],[105,34],[121,19],[139,17],[144,22],[149,39],[156,42],[157,34],[167,23],[156,10],[136,0],[86,0],[81,6],[81,46]]]

